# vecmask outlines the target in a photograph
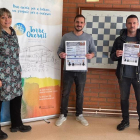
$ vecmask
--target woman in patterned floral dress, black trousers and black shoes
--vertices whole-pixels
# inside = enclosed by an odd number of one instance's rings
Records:
[[[3,101],[10,101],[10,131],[28,132],[31,126],[23,125],[21,120],[22,83],[19,44],[11,23],[10,11],[0,8],[0,110]],[[0,139],[7,137],[0,126]]]

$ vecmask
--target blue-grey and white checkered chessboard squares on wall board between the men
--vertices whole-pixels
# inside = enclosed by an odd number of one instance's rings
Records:
[[[113,11],[112,11],[113,12]],[[91,34],[97,50],[92,63],[114,64],[110,59],[110,51],[114,40],[125,27],[126,18],[111,16],[87,16],[84,31]]]

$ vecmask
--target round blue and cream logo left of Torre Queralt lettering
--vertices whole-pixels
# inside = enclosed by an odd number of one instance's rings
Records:
[[[17,35],[23,35],[26,31],[25,26],[22,23],[16,23],[13,27]]]

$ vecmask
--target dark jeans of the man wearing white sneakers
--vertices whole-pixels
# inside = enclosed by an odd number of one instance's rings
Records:
[[[76,116],[83,111],[83,92],[86,82],[86,72],[63,71],[63,89],[61,100],[61,114],[67,116],[68,100],[73,81],[76,85]]]

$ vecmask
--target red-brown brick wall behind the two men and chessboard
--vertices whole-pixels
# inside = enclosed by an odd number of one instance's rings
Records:
[[[73,19],[78,7],[140,8],[139,0],[63,0],[63,34],[73,31]],[[69,107],[75,107],[75,85],[73,84]],[[120,109],[120,92],[114,70],[89,69],[84,91],[85,108]],[[136,109],[134,91],[131,88],[130,110]]]

